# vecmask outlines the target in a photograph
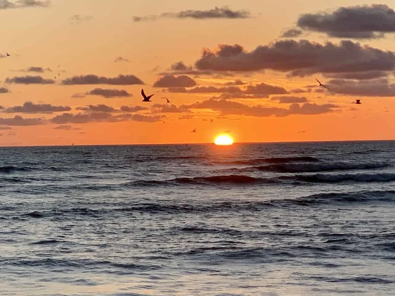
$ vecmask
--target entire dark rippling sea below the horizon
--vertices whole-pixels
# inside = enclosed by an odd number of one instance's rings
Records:
[[[0,155],[2,296],[395,293],[395,142]]]

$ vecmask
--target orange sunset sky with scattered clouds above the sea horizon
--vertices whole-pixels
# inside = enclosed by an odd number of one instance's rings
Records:
[[[0,146],[394,139],[393,9],[0,0]]]

